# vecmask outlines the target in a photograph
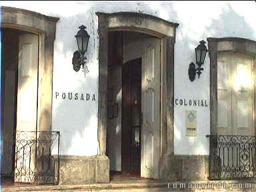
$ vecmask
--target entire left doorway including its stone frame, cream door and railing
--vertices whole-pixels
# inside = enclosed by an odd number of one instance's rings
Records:
[[[52,176],[52,172],[47,170],[45,174],[42,168],[53,164],[47,159],[52,157],[49,145],[53,138],[59,139],[59,132],[51,131],[53,42],[59,18],[4,6],[1,15],[4,82],[1,177],[14,175],[15,183],[53,183],[49,178],[57,175],[54,178],[57,183],[58,169]],[[57,137],[53,136],[55,133]]]

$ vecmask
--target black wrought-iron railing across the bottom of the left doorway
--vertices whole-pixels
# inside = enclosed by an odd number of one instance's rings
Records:
[[[59,131],[16,131],[15,183],[59,183]]]

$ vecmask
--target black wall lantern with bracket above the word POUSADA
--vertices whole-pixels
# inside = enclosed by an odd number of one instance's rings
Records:
[[[75,38],[77,39],[78,50],[75,51],[75,53],[73,53],[72,64],[73,64],[73,69],[76,72],[79,71],[82,65],[83,69],[85,69],[85,73],[88,73],[89,70],[87,69],[86,57],[84,55],[85,53],[87,53],[87,46],[88,46],[90,35],[88,35],[85,29],[86,27],[84,25],[81,25],[79,27],[79,31],[77,32],[77,35],[75,35]]]

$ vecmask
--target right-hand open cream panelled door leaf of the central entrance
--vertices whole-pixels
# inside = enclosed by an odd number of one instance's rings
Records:
[[[160,46],[157,38],[143,41],[141,102],[141,177],[159,178],[160,159]]]

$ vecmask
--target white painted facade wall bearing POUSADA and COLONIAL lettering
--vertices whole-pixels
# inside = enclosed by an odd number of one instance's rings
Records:
[[[193,83],[187,71],[195,61],[194,49],[207,37],[244,37],[256,40],[255,1],[68,1],[25,2],[0,1],[0,5],[36,11],[60,17],[57,22],[53,67],[53,130],[61,131],[61,155],[97,154],[96,101],[62,101],[55,92],[95,93],[98,89],[97,16],[95,12],[133,11],[155,15],[179,23],[175,43],[175,98],[205,99],[209,103],[209,57],[203,74]],[[88,45],[87,77],[73,71],[71,61],[77,49],[74,35],[79,25],[87,26],[91,38]],[[171,101],[170,101],[171,102]],[[197,111],[197,137],[185,136],[185,110]],[[209,153],[208,107],[174,107],[175,154],[205,155]]]

